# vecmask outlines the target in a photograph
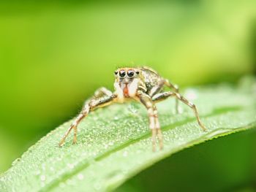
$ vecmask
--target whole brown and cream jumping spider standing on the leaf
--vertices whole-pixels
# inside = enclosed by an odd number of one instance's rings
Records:
[[[66,134],[64,134],[61,142],[59,142],[59,146],[64,144],[67,135],[72,129],[74,129],[73,143],[77,142],[78,124],[92,110],[99,107],[105,107],[113,102],[124,103],[125,101],[129,101],[131,99],[139,101],[146,107],[148,111],[149,128],[152,131],[153,150],[155,150],[156,147],[156,137],[159,139],[160,149],[163,147],[156,103],[167,99],[170,96],[176,97],[176,112],[178,112],[178,100],[184,102],[184,104],[187,104],[192,108],[192,110],[194,110],[199,126],[203,129],[203,131],[206,131],[205,126],[199,118],[195,104],[192,104],[185,99],[184,96],[181,96],[181,94],[178,93],[177,85],[173,85],[168,80],[161,77],[153,69],[146,66],[137,68],[120,68],[116,70],[115,78],[115,91],[112,93],[107,88],[99,88],[97,91],[95,91],[94,96],[86,101],[83,110],[81,110],[80,114],[77,118],[75,118]],[[163,91],[164,86],[167,86],[167,88],[170,88],[173,91]]]

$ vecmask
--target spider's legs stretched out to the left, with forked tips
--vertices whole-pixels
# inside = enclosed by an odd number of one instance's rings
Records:
[[[99,107],[105,107],[108,104],[111,104],[111,102],[116,99],[116,94],[113,94],[111,91],[108,91],[106,88],[99,88],[97,91],[95,91],[94,96],[92,99],[89,99],[86,101],[86,103],[83,106],[83,110],[81,110],[80,114],[77,118],[73,121],[67,132],[64,134],[64,137],[62,137],[61,142],[59,142],[59,146],[61,147],[64,145],[64,142],[69,135],[70,131],[74,129],[74,139],[73,143],[77,142],[77,130],[78,130],[78,124],[80,121],[85,118],[89,112],[92,110],[95,110]]]

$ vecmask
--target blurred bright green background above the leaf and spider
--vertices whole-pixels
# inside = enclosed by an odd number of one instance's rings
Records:
[[[255,72],[256,1],[1,1],[0,172],[127,65],[237,82]]]

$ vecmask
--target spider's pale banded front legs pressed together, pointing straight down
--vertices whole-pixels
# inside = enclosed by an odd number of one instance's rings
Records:
[[[156,150],[156,137],[159,139],[159,147],[162,150],[162,133],[160,129],[160,123],[158,119],[157,107],[152,101],[151,97],[143,91],[138,91],[138,96],[140,98],[140,102],[146,107],[148,110],[148,118],[149,118],[149,128],[152,131],[152,147],[153,151]]]

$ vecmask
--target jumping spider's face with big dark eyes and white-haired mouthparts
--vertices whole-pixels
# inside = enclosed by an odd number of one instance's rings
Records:
[[[140,82],[140,69],[120,68],[115,72],[115,88],[118,97],[134,97]]]

